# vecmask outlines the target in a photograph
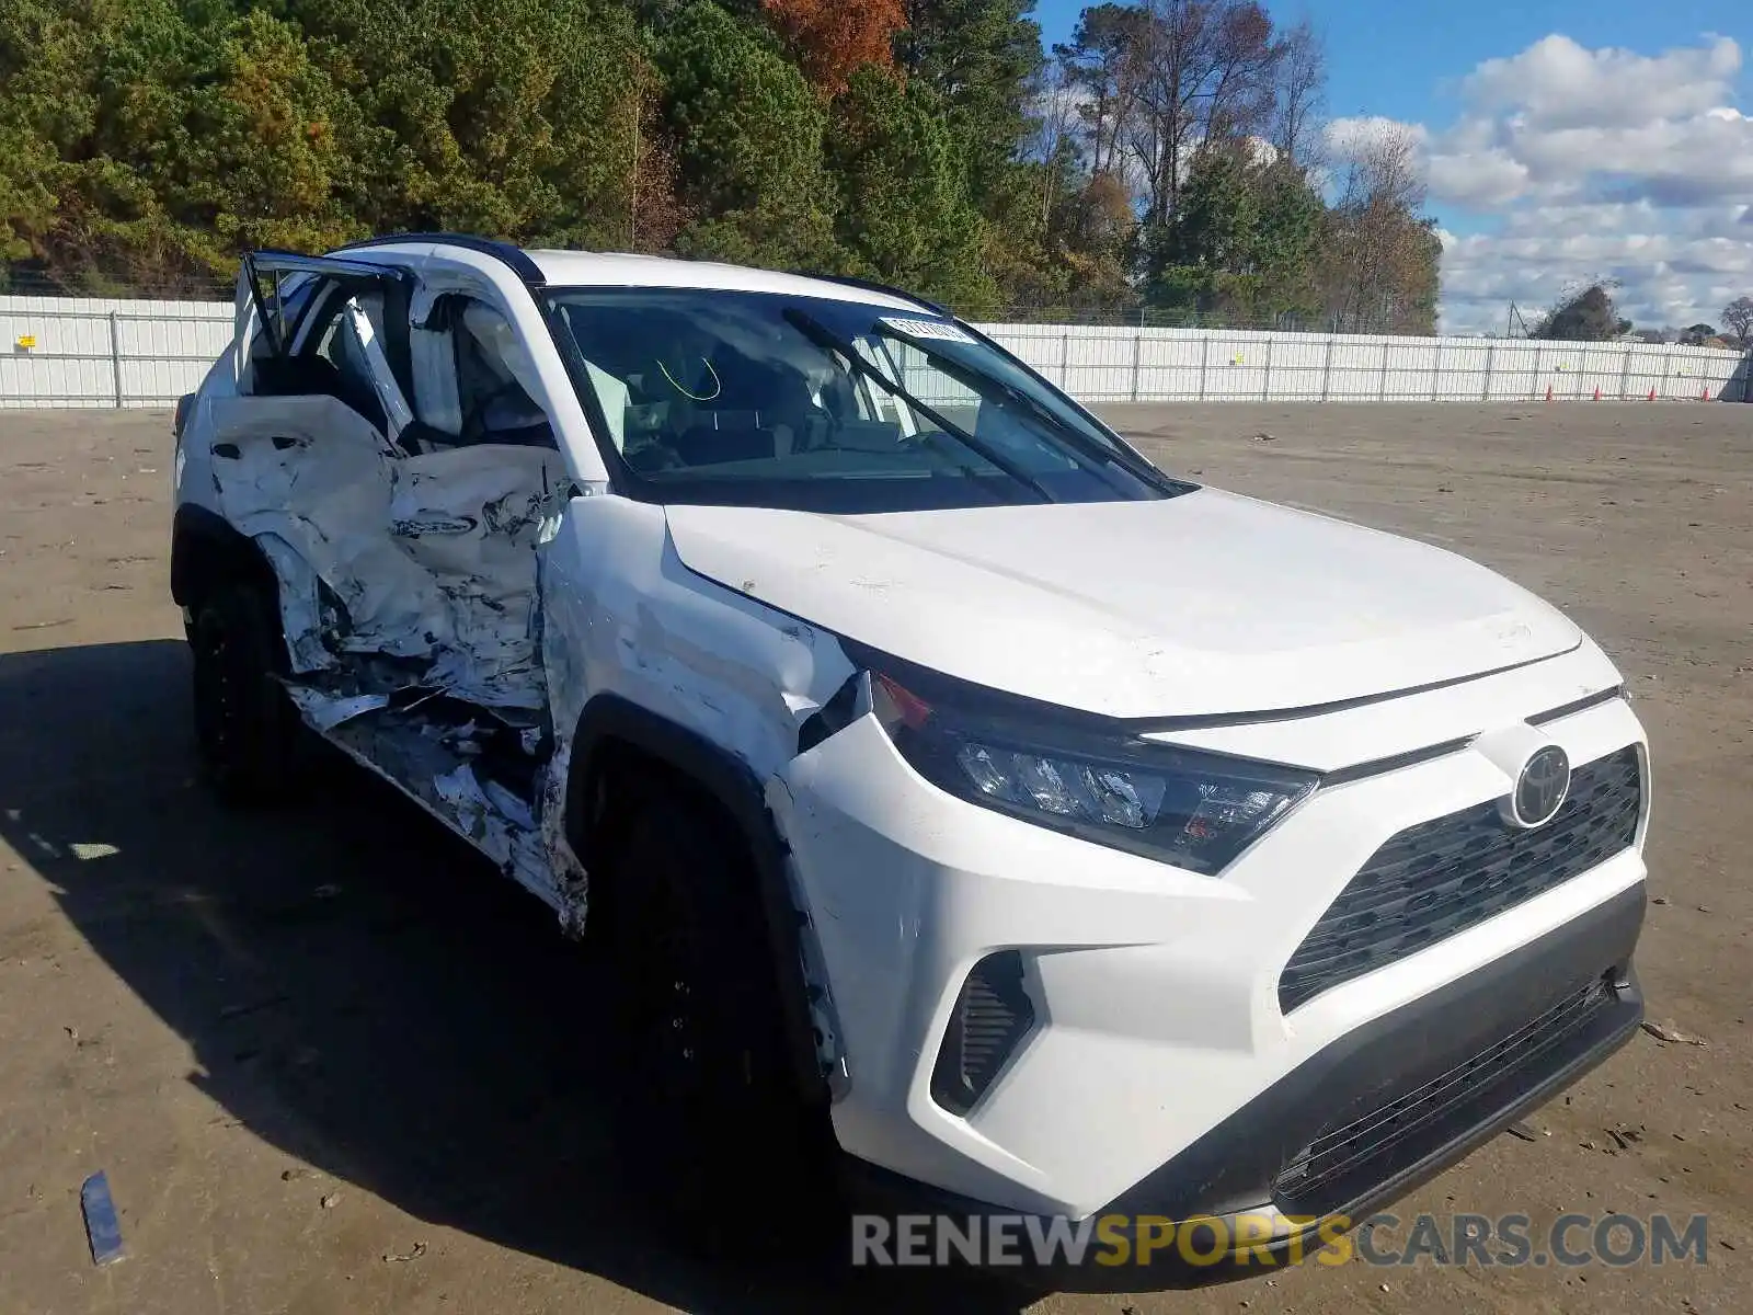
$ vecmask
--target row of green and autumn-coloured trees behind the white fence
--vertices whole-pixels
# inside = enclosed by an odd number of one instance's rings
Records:
[[[876,274],[959,309],[1271,316],[1320,291],[1352,324],[1429,323],[1418,200],[1348,170],[1329,212],[1306,182],[1308,26],[1266,0],[1096,4],[1048,67],[1031,9],[11,0],[0,270],[195,286],[247,245],[454,228]]]

